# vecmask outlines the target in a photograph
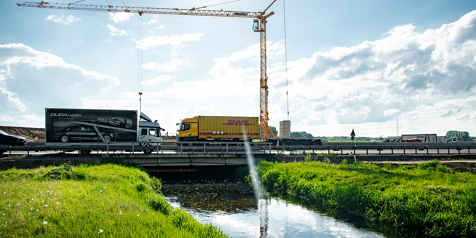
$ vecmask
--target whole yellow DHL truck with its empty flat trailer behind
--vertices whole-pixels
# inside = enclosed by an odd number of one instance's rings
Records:
[[[242,142],[259,139],[257,117],[197,116],[180,120],[177,142]],[[271,138],[265,142],[273,145],[322,145],[320,139]],[[194,145],[194,143],[189,144]]]

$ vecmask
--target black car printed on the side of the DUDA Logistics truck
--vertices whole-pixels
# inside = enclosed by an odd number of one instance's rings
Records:
[[[114,141],[119,138],[117,133],[101,132],[104,142]],[[72,126],[55,132],[54,139],[66,142],[103,142],[98,138],[96,129],[90,126]]]

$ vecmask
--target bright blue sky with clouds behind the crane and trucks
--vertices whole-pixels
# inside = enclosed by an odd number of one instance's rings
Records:
[[[227,1],[124,0],[128,7],[179,9]],[[271,2],[206,9],[256,12]],[[170,135],[180,119],[198,115],[259,117],[252,19],[16,3],[0,9],[2,126],[44,128],[45,108],[140,110]],[[399,135],[476,135],[474,0],[277,0],[270,11],[270,126],[278,128],[289,110],[291,131],[314,136],[349,136],[352,129],[396,136],[397,120]]]

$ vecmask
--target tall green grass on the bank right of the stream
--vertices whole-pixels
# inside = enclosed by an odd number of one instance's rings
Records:
[[[298,201],[339,208],[368,222],[434,237],[475,237],[476,176],[428,161],[417,166],[258,163],[269,189]]]

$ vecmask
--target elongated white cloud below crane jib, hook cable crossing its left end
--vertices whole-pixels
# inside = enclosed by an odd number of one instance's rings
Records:
[[[160,45],[171,45],[180,47],[183,46],[182,43],[185,41],[197,41],[200,40],[205,33],[185,33],[181,35],[170,35],[170,36],[148,36],[142,39],[142,43],[140,40],[131,39],[135,41],[137,46],[135,48],[139,48],[142,50],[147,50],[152,47],[160,46]]]

